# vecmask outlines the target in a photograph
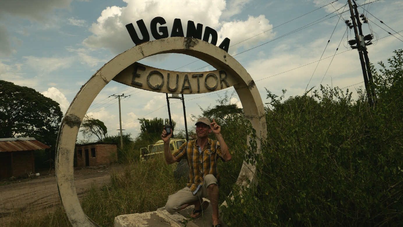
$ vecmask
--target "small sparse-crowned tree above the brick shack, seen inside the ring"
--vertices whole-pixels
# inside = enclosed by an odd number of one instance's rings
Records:
[[[98,137],[97,141],[102,141],[102,139],[106,138],[106,132],[108,132],[108,129],[104,122],[94,119],[92,116],[85,115],[81,122],[80,132],[83,133],[84,137],[95,135]]]

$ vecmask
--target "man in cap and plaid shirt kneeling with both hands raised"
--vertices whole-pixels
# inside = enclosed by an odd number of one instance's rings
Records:
[[[208,197],[213,209],[213,226],[221,227],[220,216],[218,214],[218,165],[217,161],[230,161],[232,156],[228,146],[221,135],[221,126],[213,119],[210,123],[208,118],[199,118],[196,122],[195,140],[189,140],[173,154],[170,152],[169,139],[172,133],[166,134],[164,129],[161,138],[164,141],[164,155],[166,163],[172,164],[187,159],[189,164],[188,183],[185,188],[177,193],[168,196],[165,209],[173,214],[187,206],[195,205],[191,218],[197,218],[208,207],[208,202],[203,198]],[[213,132],[217,140],[208,138],[208,134]]]

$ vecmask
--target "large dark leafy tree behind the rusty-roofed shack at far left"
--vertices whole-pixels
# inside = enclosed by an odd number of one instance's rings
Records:
[[[54,146],[62,116],[56,101],[0,80],[0,138],[29,136]]]

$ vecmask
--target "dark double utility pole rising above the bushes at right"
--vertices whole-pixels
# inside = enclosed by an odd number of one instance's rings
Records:
[[[370,105],[374,104],[374,99],[376,98],[375,91],[373,89],[373,79],[372,79],[372,74],[371,74],[371,68],[370,68],[370,60],[368,58],[368,51],[366,45],[371,45],[371,41],[373,39],[372,34],[364,36],[362,34],[362,29],[361,29],[361,21],[359,20],[359,14],[357,10],[357,4],[355,4],[354,0],[354,5],[351,4],[351,0],[348,0],[349,2],[349,8],[350,8],[350,14],[351,14],[351,21],[353,22],[353,25],[351,26],[351,23],[347,20],[346,24],[347,26],[351,28],[354,28],[354,34],[355,34],[355,40],[349,40],[348,43],[350,44],[352,49],[357,49],[358,54],[359,54],[359,60],[361,62],[361,70],[362,74],[364,76],[364,85],[365,89],[367,91],[367,97],[368,97],[368,103]],[[354,14],[354,11],[355,14]],[[366,21],[364,15],[361,15],[361,17]],[[364,22],[365,23],[365,22]],[[368,41],[367,43],[365,41]],[[353,46],[357,44],[357,46]]]

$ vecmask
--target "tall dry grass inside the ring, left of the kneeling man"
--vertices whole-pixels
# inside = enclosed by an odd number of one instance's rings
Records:
[[[185,186],[176,180],[163,159],[129,163],[111,173],[111,183],[92,186],[81,201],[85,214],[101,226],[113,226],[119,215],[154,211],[165,206],[168,195]]]

